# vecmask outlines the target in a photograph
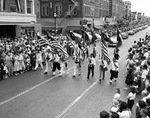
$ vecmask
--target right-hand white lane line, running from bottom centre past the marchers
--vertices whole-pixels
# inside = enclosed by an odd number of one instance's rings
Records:
[[[123,57],[126,55],[127,53],[125,53],[124,55],[122,55],[119,59],[119,61],[121,59],[123,59]],[[79,97],[77,97],[71,104],[69,104],[61,113],[59,113],[55,118],[60,118],[61,116],[63,116],[73,105],[75,105],[90,89],[92,89],[96,83],[99,82],[99,80],[96,80],[90,87],[88,87],[83,93],[80,94]]]

